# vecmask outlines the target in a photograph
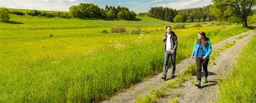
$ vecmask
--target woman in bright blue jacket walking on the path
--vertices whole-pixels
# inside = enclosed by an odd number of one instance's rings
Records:
[[[207,76],[208,76],[207,65],[208,65],[209,57],[211,53],[212,53],[212,46],[210,43],[210,39],[205,36],[205,33],[203,31],[200,31],[198,33],[198,39],[194,43],[194,48],[191,55],[192,59],[194,58],[193,56],[196,57],[197,82],[195,85],[198,87],[201,86],[202,64],[205,72],[203,83],[208,82],[207,81]]]

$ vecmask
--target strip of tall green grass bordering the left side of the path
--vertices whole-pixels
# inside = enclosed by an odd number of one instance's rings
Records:
[[[247,30],[235,28],[207,34],[212,43],[217,43]],[[196,37],[197,34],[178,38],[178,62],[191,54]],[[138,42],[125,47],[111,45],[87,55],[21,61],[11,70],[3,68],[0,101],[92,102],[107,99],[114,92],[162,70],[163,42],[158,38]]]

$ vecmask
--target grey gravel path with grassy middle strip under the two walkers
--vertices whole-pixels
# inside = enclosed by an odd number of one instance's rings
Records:
[[[250,34],[250,36],[240,40],[235,39],[238,36],[245,35],[245,34]],[[207,84],[202,83],[201,84],[202,88],[197,88],[194,85],[191,85],[189,81],[187,81],[185,83],[185,87],[183,88],[167,90],[167,91],[170,91],[170,92],[167,92],[170,94],[166,94],[165,98],[160,99],[159,102],[169,102],[169,97],[171,96],[171,94],[173,94],[172,92],[174,91],[175,92],[178,91],[183,94],[182,98],[178,99],[179,102],[211,102],[212,98],[214,98],[215,93],[217,93],[215,92],[218,89],[216,83],[220,77],[220,74],[225,72],[225,68],[227,68],[227,66],[234,63],[235,57],[237,57],[237,54],[239,54],[242,47],[244,47],[249,42],[249,39],[252,37],[252,35],[254,35],[253,30],[240,33],[237,36],[230,37],[228,39],[222,40],[219,43],[213,44],[212,49],[214,51],[214,50],[217,50],[218,47],[220,47],[225,43],[232,42],[234,40],[237,41],[237,43],[235,43],[234,46],[226,50],[224,53],[221,53],[219,58],[215,59],[215,64],[217,65],[208,66],[208,71],[210,72],[208,76],[208,81],[210,82],[208,82]],[[182,60],[179,64],[176,65],[176,75],[180,74],[182,70],[186,69],[187,66],[189,66],[192,63],[195,63],[194,59],[192,60],[190,58],[187,58]],[[172,80],[170,77],[171,76],[170,72],[171,71],[167,73],[168,80]],[[153,75],[153,77],[149,78],[148,80],[135,84],[130,89],[128,89],[129,91],[117,93],[109,100],[105,100],[102,102],[135,102],[136,96],[138,94],[143,95],[143,94],[149,93],[149,86],[159,87],[161,85],[164,85],[166,82],[160,79],[161,76],[162,76],[162,73],[159,73],[158,75]],[[196,80],[196,78],[194,77],[193,79]]]

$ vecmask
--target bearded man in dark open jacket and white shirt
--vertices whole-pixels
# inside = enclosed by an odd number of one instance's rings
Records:
[[[164,41],[164,68],[163,68],[163,77],[161,79],[166,80],[167,70],[168,70],[168,63],[169,58],[171,56],[172,60],[172,75],[171,77],[174,78],[174,73],[176,70],[176,50],[178,46],[178,39],[176,34],[172,31],[171,26],[166,26],[166,33],[164,34],[163,41]]]

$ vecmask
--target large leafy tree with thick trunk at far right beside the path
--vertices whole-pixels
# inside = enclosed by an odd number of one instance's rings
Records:
[[[252,15],[255,0],[212,0],[213,6],[210,13],[220,21],[226,21],[230,17],[237,17],[242,20],[242,26],[247,27],[247,17]]]

